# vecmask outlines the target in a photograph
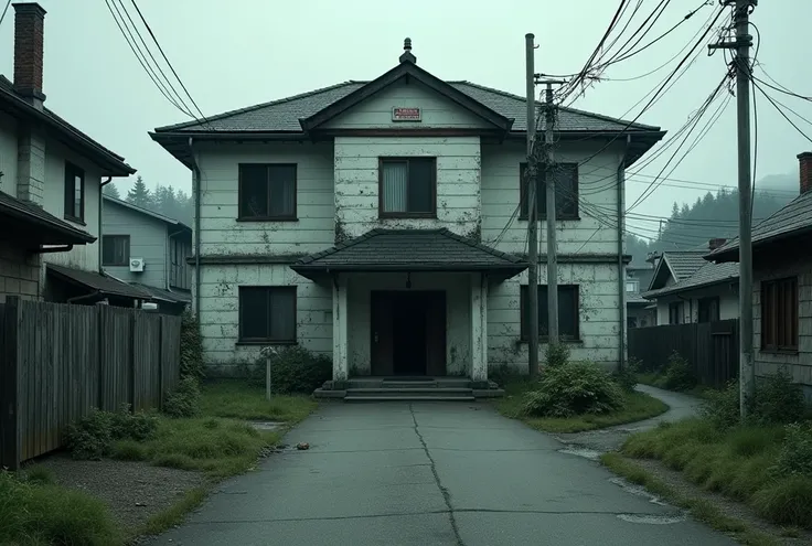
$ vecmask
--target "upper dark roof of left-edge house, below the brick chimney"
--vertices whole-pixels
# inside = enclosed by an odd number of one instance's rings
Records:
[[[0,109],[8,110],[12,116],[33,119],[43,124],[53,131],[54,136],[74,148],[82,154],[95,161],[106,176],[127,176],[136,172],[124,162],[124,158],[108,150],[90,137],[72,126],[47,108],[34,107],[14,92],[14,85],[0,75]]]

